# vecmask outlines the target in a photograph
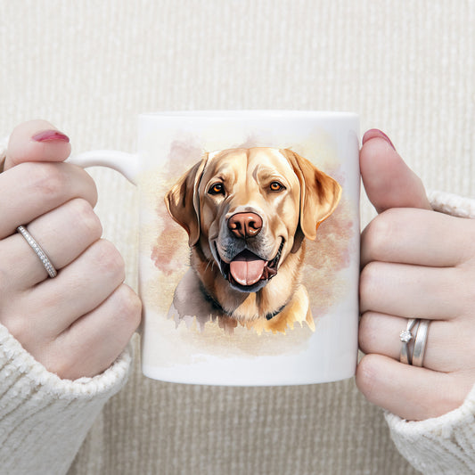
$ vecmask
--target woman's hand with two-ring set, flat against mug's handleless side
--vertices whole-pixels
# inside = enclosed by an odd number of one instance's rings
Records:
[[[462,405],[475,382],[475,220],[430,209],[389,139],[364,135],[364,188],[381,213],[362,233],[356,384],[371,402],[420,421]],[[399,362],[399,333],[429,319],[423,367]],[[414,334],[414,332],[413,332]]]

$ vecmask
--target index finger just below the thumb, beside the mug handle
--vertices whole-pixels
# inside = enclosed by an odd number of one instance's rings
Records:
[[[73,198],[83,198],[94,207],[94,180],[82,168],[69,163],[21,163],[0,175],[0,239],[15,233]]]

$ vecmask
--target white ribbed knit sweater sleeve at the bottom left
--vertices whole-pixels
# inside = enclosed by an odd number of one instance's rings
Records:
[[[127,348],[94,378],[61,380],[0,324],[2,471],[65,473],[102,406],[125,384],[130,362]]]

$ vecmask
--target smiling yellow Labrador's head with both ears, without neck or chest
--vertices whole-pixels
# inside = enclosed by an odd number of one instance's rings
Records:
[[[167,193],[170,215],[233,289],[256,292],[340,201],[332,177],[291,150],[207,153]]]

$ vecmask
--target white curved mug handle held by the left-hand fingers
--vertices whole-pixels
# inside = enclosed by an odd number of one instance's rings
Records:
[[[90,152],[71,155],[68,163],[86,167],[107,167],[117,170],[125,176],[131,184],[137,184],[136,180],[140,172],[139,159],[136,153],[120,152],[117,150],[92,150]]]

